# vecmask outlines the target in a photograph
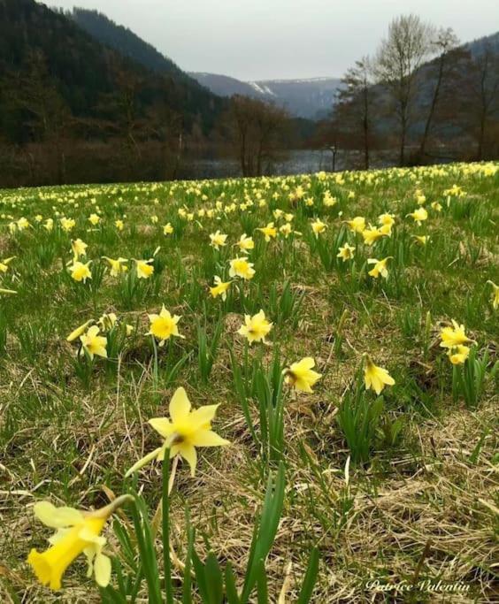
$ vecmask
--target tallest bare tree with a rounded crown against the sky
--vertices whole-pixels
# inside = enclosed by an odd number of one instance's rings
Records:
[[[395,101],[400,127],[399,161],[405,163],[405,146],[411,125],[412,101],[418,68],[434,50],[431,41],[434,28],[416,15],[395,18],[388,27],[388,37],[380,45],[375,73]]]

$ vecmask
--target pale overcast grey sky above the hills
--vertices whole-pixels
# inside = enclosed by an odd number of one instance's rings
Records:
[[[241,80],[341,76],[388,22],[415,12],[469,41],[499,28],[499,0],[44,0],[97,9],[186,71]]]

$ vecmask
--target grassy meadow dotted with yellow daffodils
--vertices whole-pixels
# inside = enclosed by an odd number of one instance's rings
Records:
[[[0,213],[2,602],[498,601],[499,164]]]

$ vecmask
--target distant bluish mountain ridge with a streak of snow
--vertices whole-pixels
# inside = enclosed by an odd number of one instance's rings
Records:
[[[292,115],[306,119],[324,118],[333,108],[342,83],[339,78],[242,81],[216,73],[189,75],[216,95],[245,95],[273,101]]]

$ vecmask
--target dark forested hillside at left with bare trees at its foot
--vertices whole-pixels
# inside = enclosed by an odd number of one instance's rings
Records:
[[[3,184],[174,175],[225,102],[167,59],[129,54],[35,0],[0,0]]]

